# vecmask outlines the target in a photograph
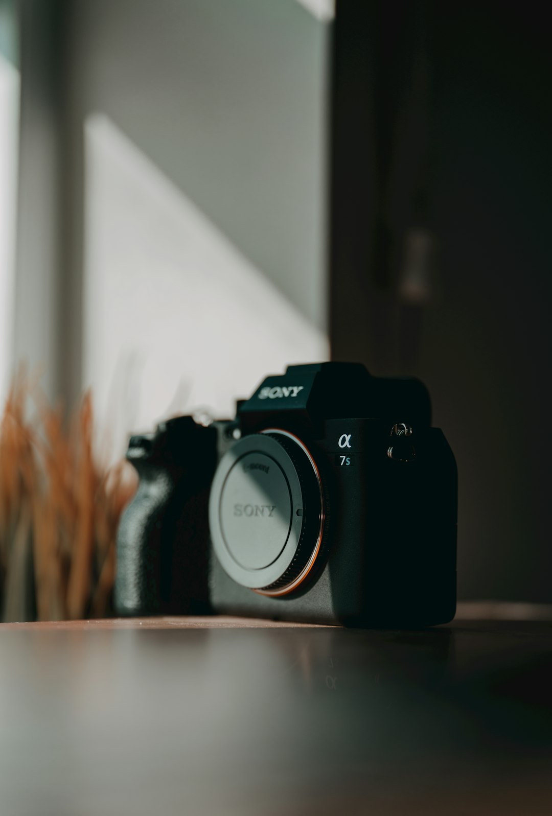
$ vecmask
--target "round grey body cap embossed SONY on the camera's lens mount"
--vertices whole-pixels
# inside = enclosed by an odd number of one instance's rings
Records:
[[[234,581],[267,596],[299,588],[324,530],[322,482],[303,442],[278,428],[237,441],[216,469],[209,524],[216,556]]]

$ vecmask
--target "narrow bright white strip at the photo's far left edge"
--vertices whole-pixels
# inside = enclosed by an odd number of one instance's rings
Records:
[[[0,54],[0,404],[13,354],[20,74]]]

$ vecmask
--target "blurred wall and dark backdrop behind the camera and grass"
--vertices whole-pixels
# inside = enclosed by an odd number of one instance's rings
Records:
[[[0,398],[91,388],[116,458],[292,362],[415,374],[459,596],[552,602],[549,39],[531,2],[0,0]]]

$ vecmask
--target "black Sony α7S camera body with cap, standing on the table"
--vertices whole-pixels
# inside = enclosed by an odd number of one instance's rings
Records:
[[[236,419],[131,437],[119,614],[421,627],[456,610],[456,463],[417,379],[289,366]]]

